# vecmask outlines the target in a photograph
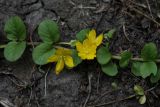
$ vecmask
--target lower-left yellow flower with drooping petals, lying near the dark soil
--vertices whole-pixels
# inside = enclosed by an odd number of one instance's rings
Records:
[[[48,58],[48,62],[57,62],[56,74],[58,75],[66,65],[68,68],[74,67],[73,58],[71,57],[72,51],[66,48],[58,48],[55,54]]]

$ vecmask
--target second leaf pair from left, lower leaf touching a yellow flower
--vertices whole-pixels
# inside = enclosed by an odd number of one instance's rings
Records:
[[[43,42],[34,48],[32,56],[36,64],[44,65],[56,51],[53,44],[60,38],[59,27],[52,20],[44,20],[38,27],[38,35]]]

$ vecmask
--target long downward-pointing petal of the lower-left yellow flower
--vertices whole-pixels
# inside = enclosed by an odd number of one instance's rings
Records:
[[[58,75],[63,70],[63,68],[64,68],[64,60],[61,57],[61,58],[59,58],[59,60],[56,64],[56,69],[55,69],[56,74]]]

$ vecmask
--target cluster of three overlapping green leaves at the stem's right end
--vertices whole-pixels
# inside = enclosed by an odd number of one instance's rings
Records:
[[[158,51],[156,45],[154,43],[145,44],[141,50],[141,57],[145,62],[133,62],[131,68],[132,73],[143,78],[150,75],[160,78],[158,77],[159,73],[157,72],[157,65],[155,63],[157,56]]]

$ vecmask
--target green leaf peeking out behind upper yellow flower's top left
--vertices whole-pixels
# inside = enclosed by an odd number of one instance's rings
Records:
[[[78,32],[76,34],[76,38],[80,41],[80,42],[83,42],[84,39],[86,39],[86,36],[88,35],[90,29],[83,29],[81,30],[80,32]]]

